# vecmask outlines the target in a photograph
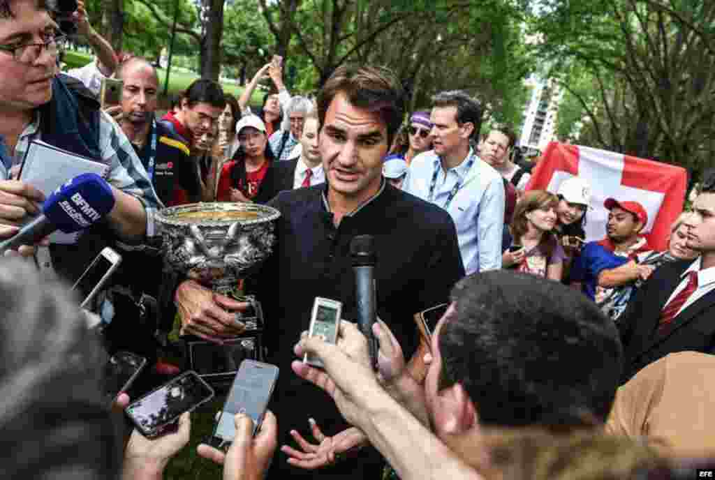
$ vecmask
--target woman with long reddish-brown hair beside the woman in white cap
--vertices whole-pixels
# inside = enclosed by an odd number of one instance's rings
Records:
[[[556,235],[558,196],[544,190],[527,191],[516,204],[511,221],[511,245],[502,254],[504,268],[561,281],[566,254]]]

